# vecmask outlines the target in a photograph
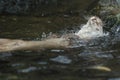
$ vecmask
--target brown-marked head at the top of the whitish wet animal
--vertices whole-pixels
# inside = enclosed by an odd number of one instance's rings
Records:
[[[103,26],[102,20],[96,16],[91,17],[88,20],[87,24],[91,27],[102,27]]]

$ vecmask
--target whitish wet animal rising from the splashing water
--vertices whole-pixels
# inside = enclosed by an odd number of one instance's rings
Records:
[[[103,36],[103,22],[97,17],[91,17],[87,24],[85,24],[77,33],[75,33],[80,39],[93,39]]]

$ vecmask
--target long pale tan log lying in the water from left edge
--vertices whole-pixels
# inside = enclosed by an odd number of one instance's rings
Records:
[[[67,48],[70,41],[65,38],[53,38],[43,41],[25,41],[0,39],[0,52]]]

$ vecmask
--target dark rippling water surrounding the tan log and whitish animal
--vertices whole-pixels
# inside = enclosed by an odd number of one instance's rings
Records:
[[[68,50],[1,53],[0,80],[120,80],[119,21],[115,15],[103,16],[104,13],[97,8],[81,15],[1,15],[1,38],[40,40],[43,32],[74,32],[86,23],[86,16],[91,14],[103,19],[105,32],[109,34],[88,43],[79,42]]]

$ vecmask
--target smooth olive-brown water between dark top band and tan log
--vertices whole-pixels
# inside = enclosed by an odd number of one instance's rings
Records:
[[[49,23],[49,21],[51,23]],[[41,38],[41,34],[58,33],[65,27],[78,26],[83,19],[74,17],[29,17],[29,16],[0,16],[0,36],[6,38]]]

